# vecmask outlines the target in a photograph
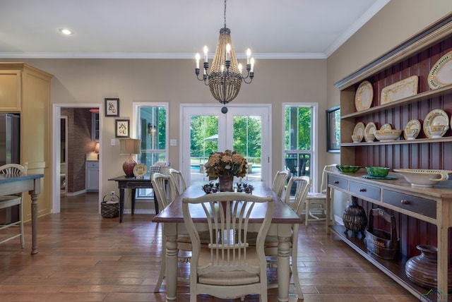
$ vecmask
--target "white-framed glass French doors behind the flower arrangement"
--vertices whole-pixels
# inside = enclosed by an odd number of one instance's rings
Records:
[[[182,107],[182,174],[188,183],[208,182],[203,165],[211,152],[236,150],[249,163],[244,181],[270,185],[270,107],[267,105]]]

